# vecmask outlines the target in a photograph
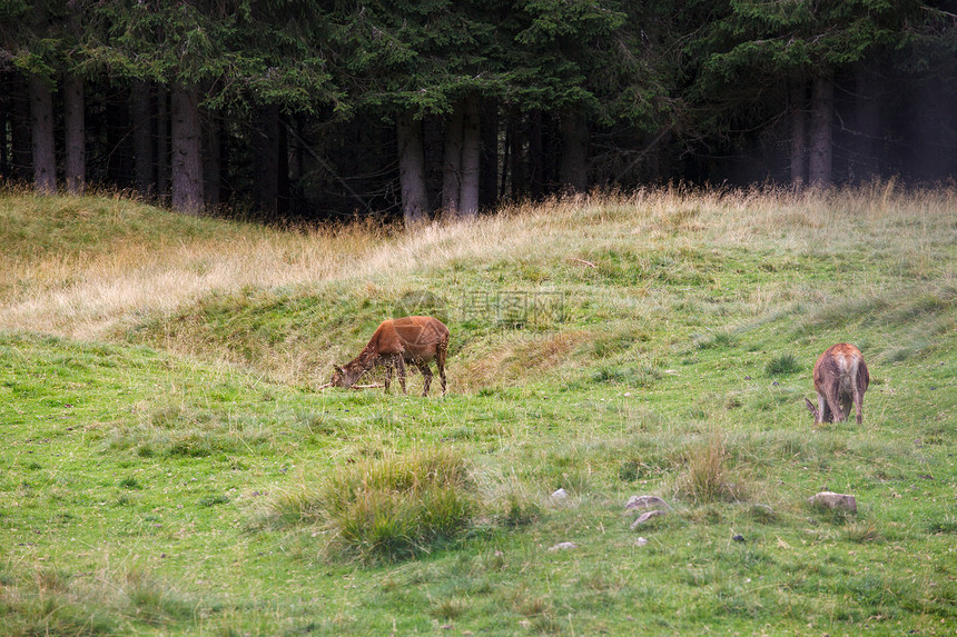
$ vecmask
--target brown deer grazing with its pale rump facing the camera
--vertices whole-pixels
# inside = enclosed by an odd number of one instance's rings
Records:
[[[815,425],[840,422],[850,416],[850,404],[857,410],[857,424],[864,422],[864,392],[870,374],[860,350],[852,345],[832,345],[815,362],[815,391],[818,406],[805,398]]]

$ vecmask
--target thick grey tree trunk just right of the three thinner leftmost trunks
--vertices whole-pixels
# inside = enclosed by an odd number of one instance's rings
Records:
[[[203,131],[199,92],[172,89],[172,208],[187,215],[203,210]]]

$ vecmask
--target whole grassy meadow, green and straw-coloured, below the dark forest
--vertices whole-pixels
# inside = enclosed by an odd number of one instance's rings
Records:
[[[4,192],[0,245],[2,635],[957,631],[953,188],[414,233]],[[318,389],[405,313],[446,396]],[[815,427],[840,341],[865,421]]]

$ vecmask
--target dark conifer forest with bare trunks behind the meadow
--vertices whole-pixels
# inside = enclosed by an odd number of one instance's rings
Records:
[[[472,217],[593,188],[957,173],[957,2],[0,4],[0,183]]]

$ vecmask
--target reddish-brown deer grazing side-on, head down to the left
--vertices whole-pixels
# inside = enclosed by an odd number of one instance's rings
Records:
[[[428,395],[432,385],[432,370],[428,362],[435,360],[442,394],[445,394],[445,352],[448,349],[448,328],[432,317],[403,317],[386,319],[379,324],[357,357],[339,367],[334,365],[332,380],[323,387],[352,387],[364,374],[376,366],[384,366],[385,390],[392,381],[392,370],[398,369],[398,384],[405,394],[405,364],[411,362],[425,379],[423,396]]]

